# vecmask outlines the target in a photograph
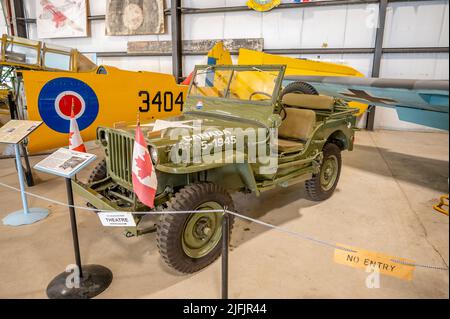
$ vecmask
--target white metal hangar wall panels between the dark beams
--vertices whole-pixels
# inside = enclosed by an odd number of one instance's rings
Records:
[[[35,18],[35,0],[24,0],[27,17]],[[292,2],[292,1],[285,1]],[[246,0],[184,0],[183,7],[242,6]],[[105,14],[106,1],[91,0],[90,15]],[[166,0],[166,7],[170,0]],[[82,52],[125,52],[129,40],[170,40],[165,35],[108,37],[105,22],[91,21],[91,37],[46,40],[78,48]],[[370,48],[374,47],[378,21],[378,5],[339,5],[274,10],[191,14],[183,16],[184,39],[264,38],[265,49],[298,48]],[[36,25],[29,24],[29,37],[37,39]],[[448,47],[448,0],[389,3],[386,16],[384,47]],[[372,54],[292,55],[351,65],[366,75],[371,74]],[[172,72],[171,57],[104,57],[99,64],[115,65],[130,70]],[[195,64],[204,63],[203,56],[184,57],[184,74]],[[448,79],[447,53],[384,54],[381,77]],[[375,127],[391,129],[425,129],[401,122],[394,110],[379,108]]]

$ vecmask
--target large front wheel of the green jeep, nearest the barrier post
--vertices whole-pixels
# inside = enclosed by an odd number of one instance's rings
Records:
[[[188,185],[167,204],[168,211],[234,209],[226,190],[213,183]],[[222,249],[223,213],[164,214],[157,225],[157,245],[165,263],[182,273],[199,271]],[[230,216],[230,227],[233,216]]]

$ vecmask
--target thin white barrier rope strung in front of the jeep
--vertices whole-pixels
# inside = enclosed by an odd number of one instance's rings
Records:
[[[2,183],[2,182],[0,182],[0,186],[2,186],[4,188],[7,188],[7,189],[10,189],[10,190],[13,190],[13,191],[16,191],[16,192],[20,192],[20,189],[14,187],[14,186]],[[73,207],[73,208],[78,209],[78,210],[90,211],[90,212],[95,212],[95,213],[97,213],[99,211],[100,212],[104,212],[104,213],[119,212],[119,211],[99,210],[97,208],[90,208],[90,207],[85,207],[85,206],[68,205],[67,203],[60,202],[60,201],[57,201],[57,200],[54,200],[54,199],[51,199],[51,198],[47,198],[45,196],[37,195],[37,194],[34,194],[34,193],[30,193],[30,192],[24,192],[24,193],[27,194],[30,197],[41,199],[43,201],[50,202],[50,203],[53,203],[53,204],[56,204],[56,205],[59,205],[59,206],[63,206],[63,207]],[[284,227],[272,225],[272,224],[263,222],[263,221],[258,220],[258,219],[254,219],[254,218],[251,218],[251,217],[248,217],[248,216],[236,213],[236,212],[229,211],[227,209],[202,210],[201,212],[194,211],[194,210],[192,210],[192,211],[189,211],[189,210],[188,211],[147,211],[147,212],[123,211],[123,213],[131,213],[131,214],[135,214],[135,215],[228,213],[228,214],[234,215],[234,216],[236,216],[238,218],[241,218],[241,219],[253,222],[255,224],[259,224],[259,225],[265,226],[267,228],[275,229],[275,230],[277,230],[279,232],[283,232],[283,233],[289,234],[289,235],[294,236],[294,237],[298,237],[298,238],[301,238],[301,239],[304,239],[304,240],[308,240],[308,241],[314,242],[316,244],[320,244],[320,245],[323,245],[323,246],[331,247],[331,248],[342,250],[342,251],[346,251],[346,252],[357,253],[357,251],[355,251],[355,250],[336,245],[335,243],[331,243],[331,242],[328,242],[328,241],[325,241],[325,240],[317,239],[317,238],[314,238],[312,236],[309,236],[309,235],[306,235],[306,234],[302,234],[300,232],[295,232],[295,231],[286,229]],[[448,267],[431,266],[431,265],[417,264],[417,263],[408,263],[408,262],[405,262],[405,261],[402,261],[402,260],[395,260],[395,259],[391,259],[390,261],[398,263],[398,264],[406,265],[406,266],[420,267],[420,268],[426,268],[426,269],[435,269],[435,270],[445,270],[445,271],[449,270]]]

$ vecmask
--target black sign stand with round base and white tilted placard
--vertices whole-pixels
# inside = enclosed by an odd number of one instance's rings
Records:
[[[78,227],[73,199],[72,177],[96,158],[93,154],[59,149],[38,163],[34,168],[65,178],[67,205],[70,213],[73,249],[76,266],[57,275],[47,286],[50,299],[90,299],[111,285],[111,270],[101,265],[82,265]]]

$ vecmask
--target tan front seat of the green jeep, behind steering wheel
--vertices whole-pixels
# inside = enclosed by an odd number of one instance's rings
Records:
[[[303,150],[315,125],[314,111],[286,108],[286,118],[278,129],[278,151],[293,153]]]

